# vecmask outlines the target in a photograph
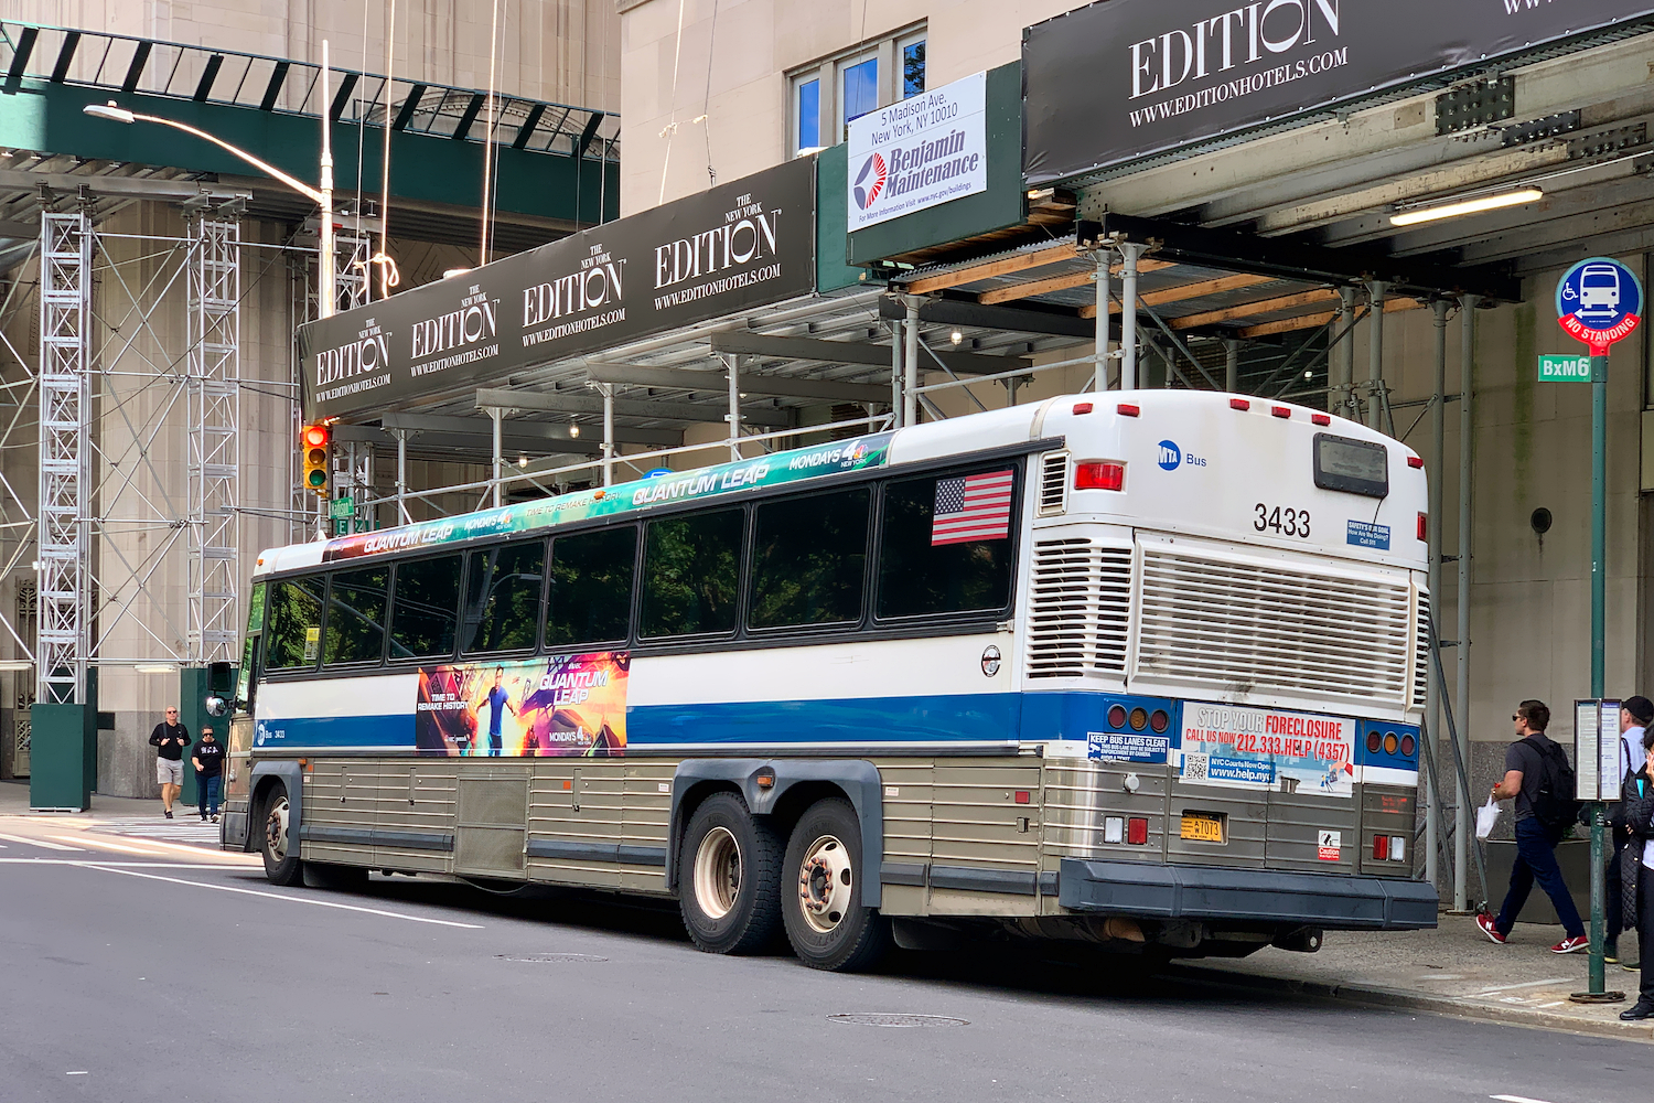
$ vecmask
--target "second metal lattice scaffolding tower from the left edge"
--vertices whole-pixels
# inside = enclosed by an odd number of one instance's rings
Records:
[[[189,663],[233,661],[241,471],[241,223],[189,232]]]

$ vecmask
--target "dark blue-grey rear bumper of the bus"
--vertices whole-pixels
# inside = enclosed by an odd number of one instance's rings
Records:
[[[1221,870],[1064,858],[1057,900],[1072,911],[1154,919],[1245,919],[1328,931],[1436,926],[1436,886],[1386,876]]]

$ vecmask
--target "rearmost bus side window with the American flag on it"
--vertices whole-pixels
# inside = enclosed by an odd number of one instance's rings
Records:
[[[1014,491],[1009,468],[888,483],[878,531],[878,617],[1004,609]]]

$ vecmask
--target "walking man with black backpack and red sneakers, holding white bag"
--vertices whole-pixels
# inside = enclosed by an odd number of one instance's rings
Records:
[[[1580,910],[1573,906],[1573,896],[1556,865],[1556,843],[1580,815],[1573,767],[1568,764],[1568,752],[1545,734],[1550,709],[1543,701],[1523,701],[1510,719],[1518,738],[1505,751],[1505,779],[1494,785],[1494,800],[1513,797],[1517,802],[1517,860],[1510,867],[1510,891],[1499,918],[1482,913],[1475,924],[1489,939],[1503,946],[1522,905],[1528,901],[1533,881],[1538,881],[1556,908],[1566,934],[1551,946],[1551,953],[1571,954],[1591,946]]]

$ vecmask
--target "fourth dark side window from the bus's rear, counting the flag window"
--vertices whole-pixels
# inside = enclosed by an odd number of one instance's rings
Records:
[[[637,529],[559,536],[551,544],[546,647],[614,643],[632,633]]]

